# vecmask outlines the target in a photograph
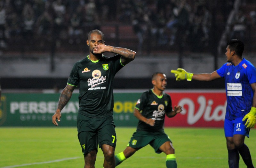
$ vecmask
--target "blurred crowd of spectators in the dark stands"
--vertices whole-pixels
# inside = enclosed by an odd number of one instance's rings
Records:
[[[227,27],[227,39],[253,45],[255,20],[255,0],[2,0],[0,49],[84,52],[87,33],[100,29],[109,45],[139,54],[215,52]]]

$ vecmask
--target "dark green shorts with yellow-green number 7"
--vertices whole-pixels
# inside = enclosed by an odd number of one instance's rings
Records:
[[[83,154],[107,144],[116,148],[116,130],[113,115],[104,118],[90,118],[78,113],[78,139]]]

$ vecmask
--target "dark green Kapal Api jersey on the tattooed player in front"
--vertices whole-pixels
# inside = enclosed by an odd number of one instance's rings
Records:
[[[91,61],[88,56],[75,63],[68,84],[79,84],[79,113],[93,118],[104,117],[112,114],[112,82],[116,72],[124,65],[121,64],[120,55],[103,55],[98,61]]]

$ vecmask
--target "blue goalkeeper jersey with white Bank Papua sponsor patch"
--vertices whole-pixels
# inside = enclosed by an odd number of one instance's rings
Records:
[[[225,78],[227,109],[225,118],[234,120],[244,117],[252,107],[252,83],[256,83],[256,69],[251,62],[243,59],[237,66],[225,63],[217,70]]]

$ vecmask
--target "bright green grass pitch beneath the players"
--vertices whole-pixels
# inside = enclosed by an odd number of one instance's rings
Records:
[[[123,151],[136,128],[117,127],[116,154]],[[227,168],[228,153],[223,128],[165,128],[175,148],[179,168]],[[256,129],[245,143],[256,165]],[[96,168],[103,167],[99,149]],[[0,168],[79,168],[84,158],[76,128],[0,128]],[[117,166],[119,168],[164,168],[165,154],[149,145]],[[240,157],[240,168],[246,168]]]

